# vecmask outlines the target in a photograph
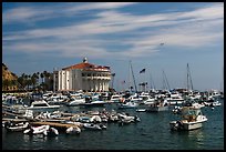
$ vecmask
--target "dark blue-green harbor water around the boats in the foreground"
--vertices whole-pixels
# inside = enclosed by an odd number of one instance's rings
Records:
[[[107,110],[125,111],[138,115],[141,122],[120,126],[107,123],[103,131],[82,131],[81,134],[60,132],[56,138],[29,136],[22,132],[7,132],[2,128],[3,150],[224,150],[224,101],[214,110],[203,108],[208,118],[204,126],[188,132],[172,132],[168,122],[177,115],[170,111],[158,113],[136,112],[134,109]],[[103,108],[63,108],[69,112],[102,110]]]

